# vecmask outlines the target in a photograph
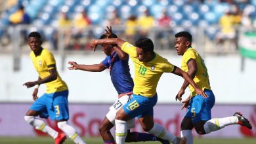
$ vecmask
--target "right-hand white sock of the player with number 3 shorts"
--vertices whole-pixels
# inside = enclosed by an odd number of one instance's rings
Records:
[[[72,141],[74,141],[75,143],[85,144],[83,139],[77,134],[75,129],[72,126],[70,126],[70,124],[68,124],[67,121],[58,122],[58,128],[60,128],[60,130],[65,132],[66,135],[68,135],[68,137],[70,137],[70,139],[72,139]]]

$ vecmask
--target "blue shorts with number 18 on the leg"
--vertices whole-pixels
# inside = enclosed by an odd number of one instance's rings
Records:
[[[133,98],[123,105],[123,110],[131,118],[154,115],[153,107],[158,101],[158,94],[152,98],[133,94]]]

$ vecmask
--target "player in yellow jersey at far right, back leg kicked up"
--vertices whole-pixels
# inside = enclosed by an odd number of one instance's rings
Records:
[[[181,31],[175,37],[177,54],[182,56],[181,69],[186,71],[208,96],[203,98],[200,94],[196,94],[196,90],[184,81],[176,96],[176,100],[181,101],[184,90],[189,86],[190,97],[182,101],[184,103],[182,109],[185,107],[187,112],[181,122],[181,136],[186,137],[188,144],[191,144],[193,143],[192,128],[195,128],[198,134],[209,134],[230,124],[240,124],[251,129],[251,124],[241,113],[236,112],[232,117],[211,119],[211,108],[215,103],[215,96],[211,90],[207,67],[200,54],[192,48],[192,35],[190,33]]]

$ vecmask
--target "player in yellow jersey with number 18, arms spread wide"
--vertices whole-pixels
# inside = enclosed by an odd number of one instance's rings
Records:
[[[161,139],[166,139],[172,143],[186,143],[186,138],[176,137],[160,124],[154,123],[153,107],[156,105],[158,95],[156,87],[163,73],[174,73],[183,77],[196,89],[197,94],[207,97],[203,90],[200,90],[189,75],[169,63],[165,58],[154,52],[154,44],[151,39],[141,38],[135,42],[136,46],[119,39],[94,39],[91,47],[96,45],[117,45],[129,57],[135,66],[135,86],[133,88],[133,98],[117,111],[116,114],[116,142],[124,143],[127,135],[127,120],[139,118],[140,125],[145,132],[154,134]]]

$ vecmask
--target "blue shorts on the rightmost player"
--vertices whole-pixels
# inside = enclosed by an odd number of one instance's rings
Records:
[[[215,104],[215,96],[211,90],[205,89],[204,92],[207,94],[207,98],[196,95],[190,99],[185,117],[191,118],[193,124],[200,120],[207,121],[211,119],[211,108]]]

